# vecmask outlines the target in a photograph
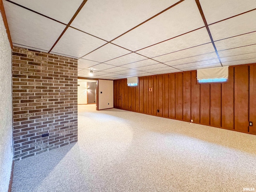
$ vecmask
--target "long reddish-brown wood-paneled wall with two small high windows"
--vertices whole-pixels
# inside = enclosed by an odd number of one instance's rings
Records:
[[[230,66],[225,83],[198,84],[196,71],[114,80],[114,108],[256,134],[256,64]]]

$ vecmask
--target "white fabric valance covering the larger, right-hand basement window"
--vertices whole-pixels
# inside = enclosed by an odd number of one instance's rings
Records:
[[[197,70],[197,80],[228,78],[228,66]]]

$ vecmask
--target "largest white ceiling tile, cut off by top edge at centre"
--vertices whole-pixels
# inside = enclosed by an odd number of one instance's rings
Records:
[[[110,41],[177,1],[89,0],[71,26]]]

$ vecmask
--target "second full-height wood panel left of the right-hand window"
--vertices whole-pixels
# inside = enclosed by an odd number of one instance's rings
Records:
[[[191,120],[191,73],[183,73],[183,120]]]

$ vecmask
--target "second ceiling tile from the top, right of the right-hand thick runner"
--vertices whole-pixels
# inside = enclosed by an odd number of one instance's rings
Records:
[[[256,31],[256,10],[210,25],[214,41]],[[245,22],[246,21],[246,22]]]

